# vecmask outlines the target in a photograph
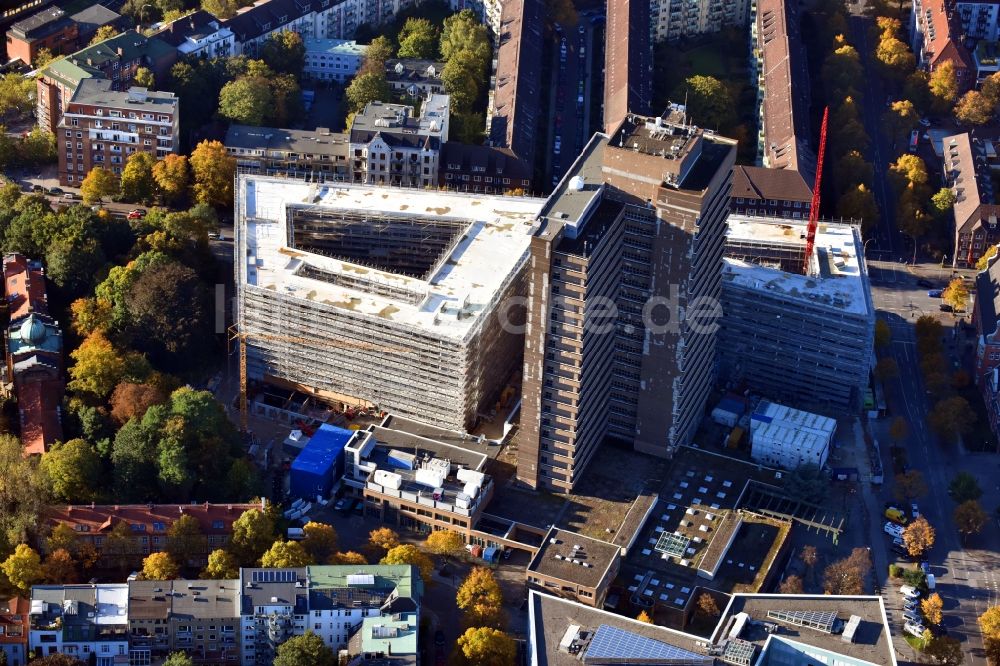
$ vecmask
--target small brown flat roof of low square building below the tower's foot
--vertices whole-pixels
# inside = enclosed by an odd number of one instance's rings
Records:
[[[597,587],[619,557],[621,549],[614,544],[553,527],[528,564],[528,572]]]

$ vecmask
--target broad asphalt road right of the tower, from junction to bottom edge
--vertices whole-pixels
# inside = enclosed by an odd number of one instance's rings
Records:
[[[1000,529],[991,520],[983,534],[964,545],[952,524],[954,502],[948,497],[948,484],[959,471],[969,471],[984,489],[983,506],[992,512],[1000,502],[1000,468],[995,455],[968,454],[957,446],[942,444],[926,427],[927,395],[920,376],[913,323],[922,314],[939,316],[948,331],[947,348],[955,348],[951,330],[958,319],[938,311],[940,299],[927,296],[927,290],[916,285],[919,278],[937,282],[950,276],[937,266],[905,267],[895,262],[869,262],[872,275],[872,296],[879,318],[890,325],[893,335],[892,354],[899,365],[899,376],[886,384],[889,416],[873,427],[875,437],[883,444],[883,466],[886,483],[877,497],[891,499],[892,463],[889,454],[888,424],[898,415],[910,423],[911,434],[903,442],[909,464],[919,470],[927,482],[928,494],[919,500],[920,511],[936,527],[934,548],[928,556],[932,573],[937,578],[937,592],[944,599],[944,626],[949,635],[962,640],[966,663],[984,666],[982,637],[977,617],[991,604],[1000,603]],[[958,334],[960,335],[960,334]],[[953,354],[958,358],[958,354]],[[878,507],[881,507],[879,503]],[[890,622],[893,625],[896,649],[905,660],[916,661],[913,650],[902,640],[902,620],[899,614],[899,594],[889,583],[886,562],[888,540],[882,533],[884,520],[873,521],[871,527],[877,574],[885,588]]]

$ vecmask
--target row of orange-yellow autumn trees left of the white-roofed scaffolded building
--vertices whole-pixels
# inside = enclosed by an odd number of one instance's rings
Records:
[[[202,141],[191,157],[171,154],[157,160],[137,151],[129,155],[121,177],[93,167],[80,185],[84,203],[106,198],[149,205],[159,198],[171,204],[191,199],[210,206],[230,206],[236,160],[220,141]]]

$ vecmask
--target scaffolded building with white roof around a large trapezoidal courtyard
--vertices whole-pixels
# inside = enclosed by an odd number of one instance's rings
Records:
[[[471,429],[521,364],[542,203],[240,176],[249,377]]]

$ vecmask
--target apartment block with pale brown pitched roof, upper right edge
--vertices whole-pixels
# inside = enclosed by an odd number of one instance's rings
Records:
[[[1000,242],[1000,204],[993,191],[993,167],[1000,166],[996,142],[973,138],[968,132],[942,140],[943,175],[955,193],[955,248],[951,265],[971,268]]]

